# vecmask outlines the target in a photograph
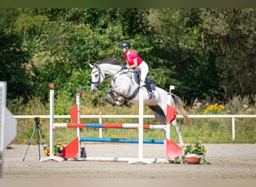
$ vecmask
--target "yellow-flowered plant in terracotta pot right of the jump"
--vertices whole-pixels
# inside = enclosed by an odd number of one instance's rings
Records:
[[[189,144],[185,147],[184,156],[185,161],[189,164],[198,165],[200,164],[210,164],[205,159],[205,153],[207,152],[206,147],[198,138],[194,141],[193,144]]]

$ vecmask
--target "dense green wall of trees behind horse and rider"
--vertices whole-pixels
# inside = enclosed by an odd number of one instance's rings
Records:
[[[47,102],[48,85],[73,98],[91,95],[88,62],[124,61],[119,45],[128,40],[150,67],[150,79],[168,91],[175,85],[192,105],[228,102],[255,95],[256,9],[0,9],[0,79],[7,81],[8,103],[38,96]]]

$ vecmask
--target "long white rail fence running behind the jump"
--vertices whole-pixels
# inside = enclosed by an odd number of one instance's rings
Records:
[[[33,119],[34,117],[40,117],[49,119],[49,115],[13,115],[16,119]],[[98,118],[100,123],[103,118],[137,118],[138,115],[81,115],[81,118]],[[154,118],[153,115],[144,115],[144,118]],[[235,140],[235,119],[236,118],[256,118],[256,114],[204,114],[204,115],[189,115],[190,118],[231,118],[232,122],[232,139]],[[55,119],[70,119],[70,115],[55,115]],[[182,116],[177,115],[177,118]]]

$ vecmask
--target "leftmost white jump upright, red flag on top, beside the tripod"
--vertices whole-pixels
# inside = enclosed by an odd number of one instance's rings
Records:
[[[50,155],[43,157],[40,159],[40,162],[47,161],[47,160],[56,160],[56,161],[64,161],[62,157],[54,156],[54,91],[50,90],[50,119],[49,119],[49,148],[50,148]]]

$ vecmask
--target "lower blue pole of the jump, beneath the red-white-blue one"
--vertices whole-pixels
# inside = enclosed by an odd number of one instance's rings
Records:
[[[128,139],[128,138],[80,138],[80,141],[135,143],[135,144],[138,144],[138,139]],[[165,140],[144,139],[143,143],[144,144],[165,144]]]

